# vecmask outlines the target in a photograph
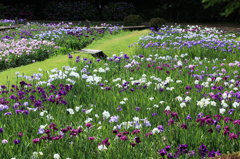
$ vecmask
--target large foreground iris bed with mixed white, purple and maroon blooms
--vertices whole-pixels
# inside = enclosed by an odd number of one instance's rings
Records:
[[[69,54],[61,70],[17,73],[19,85],[0,89],[0,157],[198,159],[239,151],[240,59],[190,51],[106,61]]]

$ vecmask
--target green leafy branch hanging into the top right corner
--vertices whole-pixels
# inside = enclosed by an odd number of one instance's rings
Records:
[[[221,13],[222,16],[228,17],[235,11],[240,14],[240,1],[239,0],[202,0],[205,7],[215,6],[217,4],[225,5],[224,11]]]

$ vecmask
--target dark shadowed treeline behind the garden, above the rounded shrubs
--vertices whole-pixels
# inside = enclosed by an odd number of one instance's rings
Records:
[[[234,22],[240,11],[220,15],[225,4],[204,8],[202,0],[10,0],[0,4],[0,18],[28,20],[114,20],[138,14],[148,21],[161,17],[168,22]]]

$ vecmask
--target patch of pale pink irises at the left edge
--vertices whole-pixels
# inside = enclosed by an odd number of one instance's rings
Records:
[[[10,40],[0,42],[0,71],[52,56],[58,46],[46,40]]]

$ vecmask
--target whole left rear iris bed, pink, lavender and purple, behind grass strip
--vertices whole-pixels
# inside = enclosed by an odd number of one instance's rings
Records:
[[[56,54],[80,50],[105,34],[115,34],[121,30],[119,27],[65,29],[63,26],[66,25],[29,24],[17,30],[1,33],[0,71],[42,61]]]

